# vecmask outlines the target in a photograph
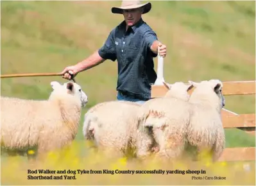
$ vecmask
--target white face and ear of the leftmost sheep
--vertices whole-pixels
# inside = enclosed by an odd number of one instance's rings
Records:
[[[60,85],[57,81],[51,82],[51,87],[53,90],[66,90],[67,94],[71,94],[75,97],[78,97],[81,101],[81,106],[85,107],[88,103],[88,97],[83,90],[81,90],[80,85],[77,83],[73,83],[71,81],[64,83],[64,85]]]

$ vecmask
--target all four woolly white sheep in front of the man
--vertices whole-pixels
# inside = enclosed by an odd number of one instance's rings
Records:
[[[193,146],[196,152],[209,149],[212,160],[217,160],[225,148],[223,83],[209,80],[164,85],[169,89],[166,96],[143,105],[107,101],[90,108],[83,121],[85,140],[118,156],[155,155],[173,160]],[[40,155],[73,142],[88,97],[71,81],[64,85],[53,81],[51,87],[48,100],[1,97],[1,147],[37,147]]]

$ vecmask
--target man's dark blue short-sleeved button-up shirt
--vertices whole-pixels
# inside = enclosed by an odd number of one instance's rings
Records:
[[[148,100],[151,97],[150,83],[157,79],[153,62],[157,54],[150,47],[158,38],[142,19],[125,30],[126,23],[123,21],[110,32],[105,44],[99,49],[99,56],[113,62],[117,60],[116,90]]]

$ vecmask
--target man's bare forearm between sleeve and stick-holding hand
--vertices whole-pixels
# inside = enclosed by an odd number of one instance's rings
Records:
[[[104,61],[105,61],[105,59],[103,59],[103,58],[101,58],[101,56],[99,56],[98,51],[95,51],[88,58],[77,63],[76,67],[78,67],[78,71],[81,72],[81,71],[90,69],[92,67],[95,67],[96,65],[99,65],[100,63],[103,63]]]

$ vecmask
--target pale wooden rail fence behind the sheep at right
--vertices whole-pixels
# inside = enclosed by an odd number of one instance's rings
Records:
[[[223,95],[255,94],[256,81],[231,81],[223,82]],[[189,92],[191,94],[193,89]],[[152,85],[151,97],[162,97],[166,94],[164,85]],[[255,114],[235,114],[230,110],[222,109],[223,128],[238,128],[250,135],[255,135]],[[225,148],[219,161],[248,161],[255,160],[255,147]]]

